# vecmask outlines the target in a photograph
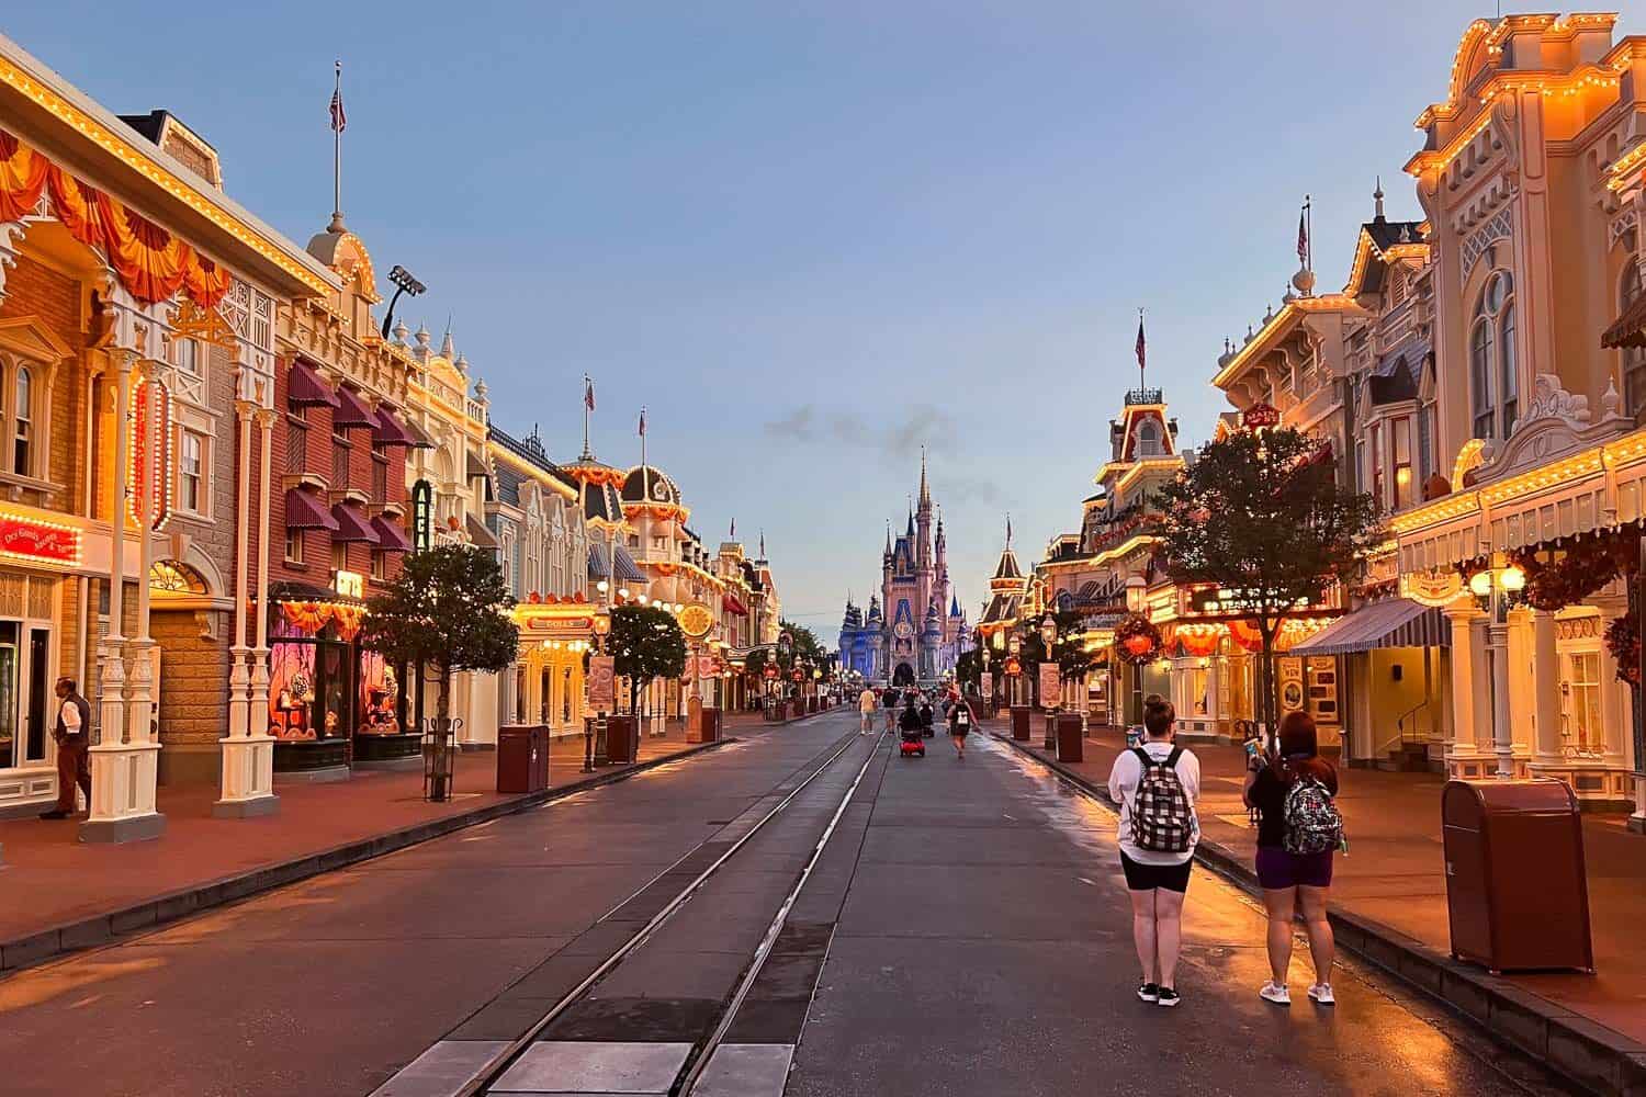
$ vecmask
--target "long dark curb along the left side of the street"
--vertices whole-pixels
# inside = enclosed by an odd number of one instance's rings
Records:
[[[219,880],[211,880],[179,891],[170,891],[151,900],[142,900],[140,903],[133,903],[105,914],[92,914],[91,918],[53,926],[51,929],[41,929],[23,937],[0,941],[0,980],[23,967],[31,967],[67,952],[77,952],[81,949],[107,944],[127,933],[153,929],[155,926],[178,918],[198,914],[214,906],[222,906],[224,903],[232,903],[272,888],[296,883],[298,880],[308,880],[309,877],[318,877],[334,868],[357,865],[364,860],[372,860],[374,857],[382,857],[384,854],[393,854],[395,850],[418,845],[454,831],[472,827],[479,822],[491,822],[492,819],[502,819],[504,816],[530,811],[532,808],[550,804],[574,793],[586,793],[591,788],[616,785],[617,781],[625,781],[637,773],[645,773],[647,770],[653,770],[660,765],[680,761],[681,758],[690,758],[708,750],[718,750],[719,747],[734,742],[737,742],[736,737],[721,738],[713,743],[695,743],[662,758],[649,758],[647,761],[639,761],[622,770],[599,773],[586,781],[561,785],[560,788],[543,789],[542,793],[527,793],[497,804],[484,804],[481,808],[472,808],[441,819],[430,819],[398,831],[374,834],[370,837],[356,839],[354,842],[323,849],[314,854],[305,854],[303,857],[296,857],[293,860],[252,868],[232,877],[222,877]]]

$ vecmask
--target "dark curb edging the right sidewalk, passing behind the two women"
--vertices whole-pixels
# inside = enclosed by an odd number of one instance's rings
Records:
[[[1108,789],[1093,785],[1060,761],[1044,758],[1014,742],[1009,732],[989,734],[1017,753],[1047,766],[1088,798],[1109,809],[1116,808]],[[1248,859],[1226,845],[1202,837],[1195,847],[1195,860],[1248,895],[1261,895],[1258,875]],[[1490,1036],[1537,1059],[1585,1090],[1646,1092],[1646,1044],[1523,990],[1506,979],[1460,964],[1448,954],[1379,921],[1337,910],[1327,916],[1337,944],[1345,952],[1353,952],[1427,998],[1463,1015]]]

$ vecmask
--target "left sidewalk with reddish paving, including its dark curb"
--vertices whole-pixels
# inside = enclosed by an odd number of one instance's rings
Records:
[[[688,745],[683,729],[673,727],[667,735],[642,738],[637,763],[581,773],[583,740],[556,742],[550,750],[550,791],[532,794],[494,791],[494,752],[461,753],[453,798],[443,804],[423,799],[420,766],[357,770],[351,780],[329,785],[277,781],[278,814],[253,819],[214,819],[214,788],[161,788],[166,832],[123,845],[76,840],[79,827],[72,819],[0,822],[0,972],[708,747]]]

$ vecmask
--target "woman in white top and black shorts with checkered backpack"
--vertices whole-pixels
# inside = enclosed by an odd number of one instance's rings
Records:
[[[1174,743],[1172,702],[1144,702],[1144,742],[1121,752],[1109,771],[1109,796],[1121,806],[1121,870],[1132,903],[1132,944],[1142,964],[1137,997],[1175,1007],[1177,954],[1183,941],[1183,896],[1195,863],[1200,821],[1200,760]]]

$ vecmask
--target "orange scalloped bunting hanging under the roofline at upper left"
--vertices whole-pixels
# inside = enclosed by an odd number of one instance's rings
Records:
[[[229,293],[234,280],[227,270],[0,130],[0,222],[33,214],[43,191],[69,235],[100,250],[138,301],[170,301],[181,289],[201,308],[216,309]]]

